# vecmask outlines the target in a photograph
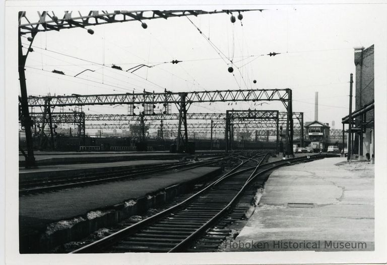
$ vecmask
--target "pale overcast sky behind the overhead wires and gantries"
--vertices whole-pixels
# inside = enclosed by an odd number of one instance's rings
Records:
[[[61,10],[55,13],[62,17]],[[39,33],[26,63],[28,94],[290,88],[293,111],[304,112],[304,121],[314,120],[314,92],[318,92],[318,120],[330,125],[335,121],[340,129],[341,118],[348,115],[349,76],[355,73],[353,47],[368,47],[385,37],[380,34],[381,25],[386,25],[384,10],[374,5],[284,6],[242,14],[243,26],[239,20],[232,24],[230,15],[216,14],[190,16],[196,26],[181,17],[145,21],[147,29],[140,22],[90,27],[94,35],[81,28]],[[30,21],[38,19],[34,12],[28,12],[27,17]],[[224,55],[220,56],[206,37]],[[28,42],[25,38],[22,41]],[[375,57],[378,49],[375,47]],[[257,56],[270,52],[281,54]],[[173,59],[182,62],[143,67],[134,74],[111,68],[116,64],[126,70]],[[237,66],[234,75],[227,71],[229,60]],[[66,76],[51,73],[53,69]],[[73,77],[85,69],[95,72]],[[83,110],[90,114],[127,113],[126,106],[113,107],[90,106]],[[281,103],[269,102],[262,106],[195,104],[189,112],[224,113],[232,108],[285,111]]]

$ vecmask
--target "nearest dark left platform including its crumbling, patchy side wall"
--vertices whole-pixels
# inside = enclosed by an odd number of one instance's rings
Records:
[[[198,181],[220,174],[221,170],[220,167],[198,167],[160,173],[149,179],[19,197],[20,251],[44,252],[57,244],[80,239],[96,229],[162,204],[181,189],[193,187]]]

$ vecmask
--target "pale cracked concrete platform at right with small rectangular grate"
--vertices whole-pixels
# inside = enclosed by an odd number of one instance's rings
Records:
[[[226,251],[373,250],[374,165],[325,158],[275,170],[233,242]]]

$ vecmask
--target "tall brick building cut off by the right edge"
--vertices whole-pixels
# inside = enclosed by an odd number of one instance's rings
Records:
[[[352,116],[352,154],[359,160],[374,159],[374,46],[357,47],[354,61],[356,65],[355,110]],[[342,118],[349,124],[349,115]]]

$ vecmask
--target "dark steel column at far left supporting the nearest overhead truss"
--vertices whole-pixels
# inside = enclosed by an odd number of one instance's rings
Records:
[[[19,12],[19,21],[21,17],[23,16],[24,12]],[[35,37],[36,33],[31,33],[32,41]],[[19,82],[20,82],[20,94],[21,94],[21,109],[22,109],[22,117],[21,117],[21,124],[24,126],[24,131],[26,133],[26,144],[27,144],[27,156],[25,161],[25,167],[32,167],[36,166],[35,163],[35,157],[34,157],[34,149],[33,149],[33,140],[32,140],[32,132],[31,132],[31,126],[32,126],[32,120],[30,117],[30,113],[28,110],[28,97],[27,97],[27,85],[26,85],[26,75],[25,75],[25,65],[27,60],[28,52],[31,48],[30,47],[26,53],[26,55],[23,55],[23,46],[22,46],[22,35],[20,31],[20,27],[18,27],[18,61],[19,61]]]

